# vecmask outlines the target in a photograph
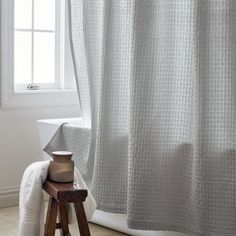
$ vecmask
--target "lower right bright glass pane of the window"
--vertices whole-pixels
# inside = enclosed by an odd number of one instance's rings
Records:
[[[55,34],[34,33],[34,83],[55,82]]]

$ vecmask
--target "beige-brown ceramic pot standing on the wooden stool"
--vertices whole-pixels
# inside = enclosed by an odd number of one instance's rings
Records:
[[[52,152],[53,161],[49,164],[49,179],[55,182],[68,183],[74,180],[74,161],[72,152]]]

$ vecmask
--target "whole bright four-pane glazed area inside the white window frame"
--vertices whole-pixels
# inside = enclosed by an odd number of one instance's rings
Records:
[[[56,0],[14,1],[14,84],[57,87]]]

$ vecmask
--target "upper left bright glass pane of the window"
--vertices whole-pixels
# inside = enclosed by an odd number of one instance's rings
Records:
[[[15,0],[15,28],[32,28],[32,0]]]

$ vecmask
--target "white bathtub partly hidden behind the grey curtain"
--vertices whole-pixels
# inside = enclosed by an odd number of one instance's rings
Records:
[[[80,118],[66,118],[66,119],[49,119],[49,120],[38,120],[39,137],[42,148],[50,141],[57,128],[62,123],[79,124]],[[43,153],[43,158],[50,159],[50,156]],[[96,210],[92,220],[93,223],[103,225],[105,227],[118,230],[120,232],[134,235],[134,236],[186,236],[181,233],[168,232],[168,231],[141,231],[131,230],[126,226],[126,215],[108,213],[100,210]]]

